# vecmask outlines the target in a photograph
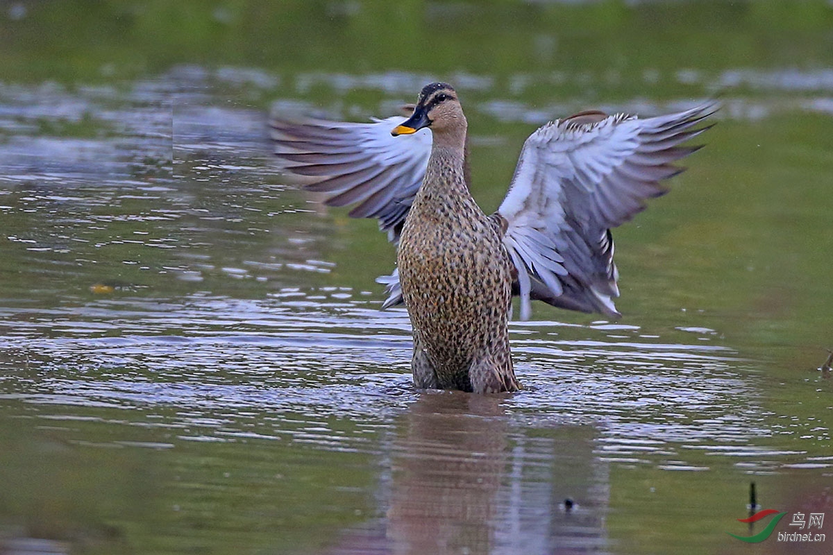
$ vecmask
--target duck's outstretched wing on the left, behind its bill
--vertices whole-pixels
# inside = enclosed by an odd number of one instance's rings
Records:
[[[402,224],[425,176],[431,133],[393,137],[402,116],[351,123],[321,119],[272,119],[275,154],[282,168],[307,176],[305,188],[330,206],[356,205],[355,218],[377,218],[388,240],[399,241]]]

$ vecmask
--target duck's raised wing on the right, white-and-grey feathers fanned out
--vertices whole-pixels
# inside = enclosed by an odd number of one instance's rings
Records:
[[[699,148],[679,145],[706,131],[697,124],[716,110],[712,103],[646,119],[585,112],[532,133],[497,211],[521,319],[531,299],[620,316],[610,230],[666,193],[661,181],[682,171],[671,162]]]

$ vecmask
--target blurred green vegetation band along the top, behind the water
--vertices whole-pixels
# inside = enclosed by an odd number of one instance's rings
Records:
[[[25,15],[0,13],[0,75],[15,82],[112,82],[177,64],[260,67],[279,77],[592,72],[604,76],[593,92],[615,100],[638,95],[646,70],[833,65],[833,7],[823,0],[14,3]],[[544,100],[565,87],[538,82],[527,95]]]

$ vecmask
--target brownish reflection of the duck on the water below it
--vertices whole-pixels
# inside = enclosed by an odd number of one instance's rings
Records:
[[[345,531],[328,553],[604,551],[607,469],[593,454],[596,429],[514,426],[505,403],[421,394],[396,424],[378,495],[384,517]]]

